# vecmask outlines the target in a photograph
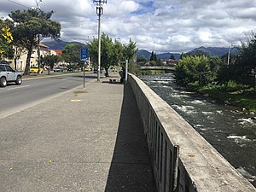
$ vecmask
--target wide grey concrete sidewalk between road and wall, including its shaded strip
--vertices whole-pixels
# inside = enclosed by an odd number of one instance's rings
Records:
[[[1,119],[0,191],[156,191],[130,85],[102,79]]]

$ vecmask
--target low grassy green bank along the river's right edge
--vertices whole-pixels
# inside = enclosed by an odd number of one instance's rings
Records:
[[[189,84],[189,89],[193,89],[201,94],[211,96],[225,104],[230,104],[239,108],[246,108],[249,112],[256,113],[256,89],[246,85],[225,84],[199,86]]]

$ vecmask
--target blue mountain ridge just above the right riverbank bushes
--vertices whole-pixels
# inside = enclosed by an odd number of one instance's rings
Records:
[[[229,48],[224,48],[224,47],[207,47],[207,48],[206,47],[199,47],[199,48],[195,48],[193,50],[190,50],[186,54],[194,55],[197,52],[202,52],[206,55],[211,55],[211,56],[223,56],[223,55],[225,55],[229,52]],[[237,55],[238,50],[236,48],[231,48],[230,53],[232,55]]]

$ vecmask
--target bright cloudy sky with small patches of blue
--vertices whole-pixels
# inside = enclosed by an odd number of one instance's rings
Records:
[[[0,0],[0,17],[38,2],[45,12],[54,11],[51,19],[61,23],[61,40],[86,43],[98,37],[93,0],[41,1]],[[102,8],[102,32],[122,44],[131,38],[149,52],[230,47],[256,32],[256,0],[107,0]]]

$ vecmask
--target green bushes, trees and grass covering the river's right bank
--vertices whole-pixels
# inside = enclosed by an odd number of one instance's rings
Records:
[[[256,35],[241,42],[239,54],[222,58],[197,53],[183,55],[176,67],[177,84],[256,112]]]

